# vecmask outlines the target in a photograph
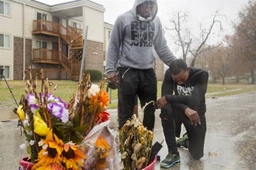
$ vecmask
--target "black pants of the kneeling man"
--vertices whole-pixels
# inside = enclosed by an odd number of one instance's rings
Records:
[[[181,125],[183,124],[188,136],[188,151],[194,159],[200,159],[204,155],[204,139],[206,133],[206,120],[204,113],[198,113],[201,125],[190,125],[189,118],[184,112],[167,104],[161,110],[161,120],[165,141],[168,151],[178,153],[176,137],[180,137]]]

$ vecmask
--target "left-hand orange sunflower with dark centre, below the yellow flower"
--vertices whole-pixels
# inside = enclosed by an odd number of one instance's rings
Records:
[[[53,139],[54,135],[54,139]],[[36,164],[34,164],[32,169],[37,169],[41,166],[47,166],[52,163],[57,163],[61,165],[62,161],[62,150],[64,143],[62,140],[60,140],[55,134],[52,133],[52,129],[46,136],[46,139],[41,139],[42,142],[44,142],[44,145],[42,146],[42,150],[38,153],[38,161]]]

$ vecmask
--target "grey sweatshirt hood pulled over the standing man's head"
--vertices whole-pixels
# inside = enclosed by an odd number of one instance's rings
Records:
[[[152,20],[155,19],[156,15],[157,15],[157,10],[158,10],[158,7],[157,7],[157,0],[135,0],[134,6],[133,6],[133,9],[132,9],[132,12],[133,12],[134,16],[139,19],[137,7],[138,7],[138,5],[143,4],[143,3],[145,3],[145,2],[152,2],[152,3],[153,3],[153,8],[152,8],[150,17],[148,17],[148,18],[150,18],[150,19],[148,19],[148,20],[149,20],[149,21],[152,21]],[[146,18],[145,18],[145,19],[146,19]]]

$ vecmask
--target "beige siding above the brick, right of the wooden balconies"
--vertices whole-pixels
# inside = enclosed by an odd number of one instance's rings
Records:
[[[88,29],[88,40],[103,42],[103,12],[89,7],[83,7],[85,12],[86,26]]]

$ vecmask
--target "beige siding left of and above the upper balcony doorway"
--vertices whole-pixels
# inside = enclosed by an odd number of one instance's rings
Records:
[[[27,38],[32,38],[33,20],[36,19],[36,13],[40,12],[43,14],[47,14],[47,20],[50,21],[52,21],[52,14],[47,11],[39,10],[30,6],[26,6],[25,9],[25,35]]]

